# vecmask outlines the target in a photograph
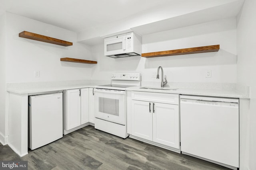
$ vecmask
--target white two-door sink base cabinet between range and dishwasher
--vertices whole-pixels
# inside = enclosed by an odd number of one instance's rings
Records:
[[[180,149],[178,94],[132,92],[131,105],[131,135]]]

